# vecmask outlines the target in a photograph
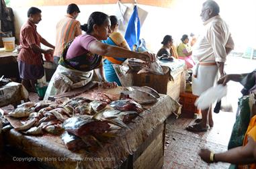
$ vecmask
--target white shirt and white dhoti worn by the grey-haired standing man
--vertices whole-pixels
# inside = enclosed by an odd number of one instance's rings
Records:
[[[220,18],[220,15],[212,17],[204,22],[204,32],[199,36],[193,46],[193,58],[196,61],[192,77],[192,92],[200,96],[204,91],[214,86],[218,79],[218,67],[202,66],[202,63],[214,63],[226,61],[226,49],[234,48],[234,42],[228,30],[228,25]]]

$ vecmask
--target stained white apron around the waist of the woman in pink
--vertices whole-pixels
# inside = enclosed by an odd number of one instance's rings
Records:
[[[44,100],[47,100],[50,96],[65,93],[71,89],[83,87],[91,81],[92,77],[93,70],[89,72],[82,72],[58,65],[56,71],[50,79],[46,93],[44,95]]]

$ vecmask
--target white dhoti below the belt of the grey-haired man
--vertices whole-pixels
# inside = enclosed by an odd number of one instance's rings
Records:
[[[218,67],[212,66],[198,66],[198,73],[196,78],[192,76],[192,93],[200,96],[204,91],[214,86],[218,79]]]

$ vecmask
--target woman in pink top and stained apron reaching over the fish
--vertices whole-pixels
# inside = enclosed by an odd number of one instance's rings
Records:
[[[87,24],[81,26],[86,34],[78,36],[73,42],[67,44],[62,53],[58,68],[50,80],[44,99],[48,99],[50,95],[63,93],[74,88],[74,81],[72,79],[74,73],[83,76],[84,82],[82,84],[85,85],[91,80],[93,70],[95,70],[97,77],[103,82],[103,85],[116,86],[116,82],[110,83],[105,80],[102,56],[139,58],[146,62],[155,62],[155,54],[132,52],[118,46],[103,44],[101,40],[107,40],[111,34],[110,26],[110,17],[108,15],[102,12],[91,13]],[[66,77],[61,82],[63,76]],[[84,80],[85,76],[87,78]],[[67,84],[67,79],[71,81],[69,84]]]

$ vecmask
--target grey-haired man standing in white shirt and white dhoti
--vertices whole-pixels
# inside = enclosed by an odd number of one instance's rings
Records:
[[[220,7],[215,1],[208,0],[203,3],[200,16],[204,21],[204,32],[198,38],[193,50],[197,64],[192,77],[192,92],[197,96],[214,86],[218,77],[224,76],[226,55],[234,48],[228,25],[221,19],[219,12]],[[212,106],[201,112],[202,120],[188,126],[186,128],[188,131],[208,131],[213,126]]]

